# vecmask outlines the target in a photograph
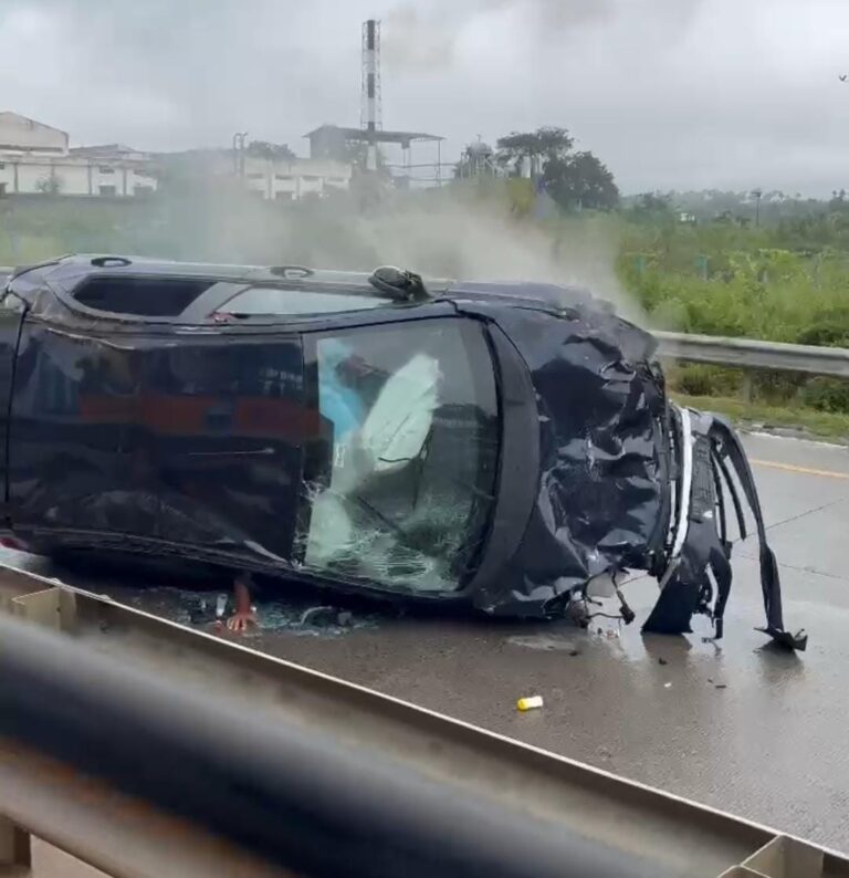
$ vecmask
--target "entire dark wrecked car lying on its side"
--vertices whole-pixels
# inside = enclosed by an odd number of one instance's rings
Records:
[[[192,558],[557,617],[648,571],[652,631],[775,557],[731,427],[665,395],[652,336],[545,284],[65,257],[0,302],[2,539]],[[622,613],[630,610],[622,598]]]

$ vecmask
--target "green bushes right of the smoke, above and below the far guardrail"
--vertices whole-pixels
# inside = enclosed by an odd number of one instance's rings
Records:
[[[716,211],[716,201],[727,207]],[[761,201],[758,205],[757,201]],[[711,205],[713,202],[713,205]],[[642,196],[622,211],[618,272],[654,328],[849,347],[849,202],[771,194]],[[706,209],[714,207],[713,215]],[[698,212],[696,212],[698,211]],[[737,400],[725,410],[776,425],[806,422],[849,437],[849,381],[681,366],[671,386],[694,397]],[[747,407],[747,409],[746,409]],[[753,408],[754,407],[754,408]],[[759,407],[759,410],[756,410]]]

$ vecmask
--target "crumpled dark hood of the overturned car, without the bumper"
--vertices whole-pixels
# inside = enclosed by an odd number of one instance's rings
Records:
[[[499,615],[557,615],[576,587],[650,568],[662,551],[670,480],[656,342],[606,313],[514,309],[495,322],[534,385],[539,470],[518,550],[478,604]]]

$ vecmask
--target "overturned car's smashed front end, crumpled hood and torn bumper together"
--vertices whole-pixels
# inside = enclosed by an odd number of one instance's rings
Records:
[[[804,631],[784,628],[778,567],[740,438],[724,419],[668,400],[652,336],[585,304],[556,321],[530,309],[495,320],[536,389],[539,482],[520,550],[478,606],[560,615],[596,577],[644,569],[661,585],[644,630],[690,633],[700,613],[720,639],[732,584],[730,501],[746,535],[740,484],[761,544],[762,630],[805,649]]]

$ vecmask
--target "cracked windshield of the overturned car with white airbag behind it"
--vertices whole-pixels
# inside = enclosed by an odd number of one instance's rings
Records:
[[[494,504],[501,425],[482,327],[410,321],[322,335],[329,433],[306,484],[305,566],[399,590],[460,588]]]

